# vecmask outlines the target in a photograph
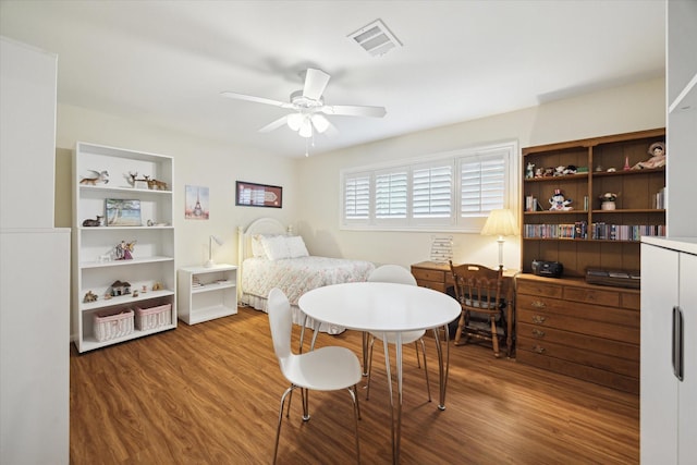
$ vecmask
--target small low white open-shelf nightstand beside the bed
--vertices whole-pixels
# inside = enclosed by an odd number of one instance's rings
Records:
[[[179,317],[187,325],[236,314],[237,267],[181,268],[179,301]]]

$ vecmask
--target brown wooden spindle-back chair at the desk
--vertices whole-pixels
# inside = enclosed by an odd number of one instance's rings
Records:
[[[470,338],[491,341],[493,355],[501,354],[499,343],[505,341],[505,306],[503,298],[503,267],[498,270],[481,265],[453,265],[450,261],[455,284],[455,298],[462,314],[455,332],[455,345],[463,345]]]

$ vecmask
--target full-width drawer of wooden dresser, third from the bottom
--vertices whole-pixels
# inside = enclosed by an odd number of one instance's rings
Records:
[[[518,326],[528,323],[540,328],[555,328],[585,335],[606,338],[612,341],[628,342],[632,344],[638,344],[640,340],[640,331],[638,327],[633,328],[629,326],[613,325],[607,321],[582,318],[580,316],[530,310],[528,308],[521,307],[516,310]]]

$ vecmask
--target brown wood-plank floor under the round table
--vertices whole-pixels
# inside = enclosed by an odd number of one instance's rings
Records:
[[[299,329],[294,329],[297,346]],[[360,334],[320,334],[318,345],[359,354]],[[638,396],[494,359],[479,345],[451,347],[447,409],[427,340],[433,402],[413,346],[404,351],[402,464],[636,464]],[[280,396],[266,314],[240,313],[77,355],[71,348],[71,464],[268,464]],[[382,351],[370,400],[360,391],[360,457],[391,463]],[[345,391],[295,396],[279,464],[355,463]]]

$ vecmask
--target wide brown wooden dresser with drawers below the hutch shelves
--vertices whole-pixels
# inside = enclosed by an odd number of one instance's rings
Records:
[[[582,279],[516,277],[516,359],[639,393],[640,293]]]

